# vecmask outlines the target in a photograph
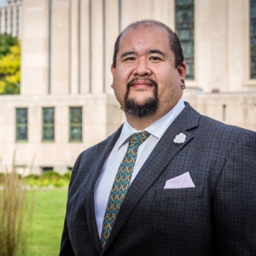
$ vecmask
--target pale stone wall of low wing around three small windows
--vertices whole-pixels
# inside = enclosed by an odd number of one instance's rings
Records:
[[[55,141],[42,142],[42,108],[55,109]],[[69,141],[69,108],[82,107],[82,142]],[[0,161],[10,166],[13,157],[20,172],[42,172],[44,167],[65,173],[85,148],[104,140],[123,121],[114,96],[107,94],[58,96],[1,96]],[[16,142],[15,108],[27,108],[27,142]],[[2,166],[3,167],[3,166]]]

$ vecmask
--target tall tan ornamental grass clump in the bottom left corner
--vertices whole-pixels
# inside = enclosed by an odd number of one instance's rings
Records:
[[[0,255],[26,255],[26,214],[29,224],[32,223],[32,206],[27,205],[26,186],[19,180],[15,165],[11,172],[7,171],[1,177]]]

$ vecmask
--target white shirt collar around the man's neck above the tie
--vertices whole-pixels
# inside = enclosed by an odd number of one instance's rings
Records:
[[[145,128],[144,131],[148,131],[152,136],[160,139],[160,137],[162,137],[162,135],[165,133],[166,129],[172,124],[174,119],[177,118],[177,115],[182,112],[183,108],[185,108],[185,104],[183,102],[183,99],[180,99],[174,108],[172,108],[163,117],[155,121],[152,125],[149,125],[147,128]],[[123,129],[117,142],[118,148],[120,148],[126,142],[128,137],[136,132],[139,131],[132,128],[125,117],[125,123],[123,125]]]

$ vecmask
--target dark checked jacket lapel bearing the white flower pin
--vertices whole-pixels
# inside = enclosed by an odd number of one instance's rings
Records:
[[[119,215],[113,224],[113,229],[108,238],[108,242],[105,245],[102,252],[108,249],[109,245],[114,241],[119,231],[124,226],[127,219],[131,216],[134,208],[139,201],[146,194],[148,189],[154,184],[156,179],[164,171],[173,157],[183,148],[193,136],[189,133],[189,130],[195,128],[198,125],[200,114],[195,112],[193,108],[186,104],[186,108],[183,112],[177,116],[166,130],[165,134],[161,137],[160,142],[157,143],[152,153],[149,155],[148,160],[144,163],[137,177],[131,183],[125,200],[119,210]],[[186,135],[184,143],[174,143],[173,139],[179,134]]]

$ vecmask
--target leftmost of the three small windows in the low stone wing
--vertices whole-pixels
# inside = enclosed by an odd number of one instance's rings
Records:
[[[27,142],[27,108],[16,108],[16,142]]]

